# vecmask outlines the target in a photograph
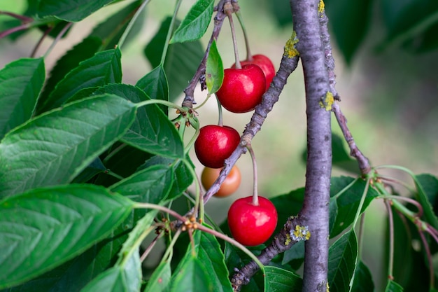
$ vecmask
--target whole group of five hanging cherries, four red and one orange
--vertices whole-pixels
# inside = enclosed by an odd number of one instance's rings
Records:
[[[222,86],[216,97],[225,109],[232,113],[253,111],[262,102],[262,95],[274,78],[274,64],[265,55],[248,55],[247,60],[236,62],[224,70]],[[206,125],[199,130],[195,141],[195,153],[204,165],[201,175],[206,190],[213,186],[229,158],[240,143],[240,135],[234,128],[222,125]],[[256,169],[254,170],[256,172]],[[216,197],[232,195],[241,183],[241,173],[234,165],[223,181]],[[257,195],[257,190],[249,197],[234,201],[228,211],[228,225],[237,242],[246,246],[256,246],[269,239],[277,224],[274,204]]]

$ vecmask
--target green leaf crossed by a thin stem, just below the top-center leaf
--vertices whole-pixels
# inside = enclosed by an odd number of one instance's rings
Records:
[[[154,68],[160,65],[170,23],[171,18],[164,20],[157,34],[145,48],[145,55]],[[174,43],[169,46],[164,60],[164,71],[169,82],[169,100],[173,101],[183,93],[203,57],[204,49],[199,41]]]

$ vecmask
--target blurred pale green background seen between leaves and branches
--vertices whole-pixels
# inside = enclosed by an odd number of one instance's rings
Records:
[[[73,26],[69,34],[57,43],[46,58],[46,69],[56,63],[83,36],[87,36],[97,23],[106,20],[108,15],[124,7],[127,2],[108,6],[90,18]],[[151,1],[147,6],[143,25],[139,34],[122,48],[123,81],[135,84],[150,71],[151,66],[143,50],[153,37],[164,18],[173,13],[174,0]],[[405,1],[406,2],[406,1]],[[408,1],[409,2],[409,1]],[[178,15],[183,18],[195,0],[183,1]],[[253,54],[262,53],[271,58],[278,69],[283,46],[292,33],[288,1],[247,1],[241,0],[241,13],[248,29]],[[397,10],[391,1],[330,0],[326,3],[332,32],[338,27],[338,35],[332,38],[333,55],[336,60],[337,90],[341,96],[341,109],[348,118],[348,126],[356,143],[371,160],[372,165],[402,165],[413,172],[438,174],[438,50],[423,53],[412,50],[415,41],[402,40],[388,44],[388,13]],[[393,1],[394,3],[394,1]],[[332,6],[331,6],[332,5]],[[364,16],[351,20],[355,5],[363,5]],[[0,10],[21,13],[26,8],[25,1],[0,0]],[[393,9],[393,10],[392,10]],[[356,9],[357,10],[357,9]],[[385,14],[386,13],[386,14]],[[353,16],[352,16],[353,15]],[[415,15],[413,16],[413,18]],[[0,15],[0,20],[7,17]],[[109,18],[106,21],[111,21]],[[339,25],[341,23],[341,25]],[[344,23],[344,25],[342,25]],[[355,27],[357,25],[357,27]],[[343,32],[342,29],[349,29]],[[241,29],[236,25],[241,59],[246,57]],[[339,31],[339,29],[341,29]],[[353,33],[352,33],[353,32]],[[209,39],[211,27],[202,43]],[[345,34],[344,41],[339,34]],[[418,33],[420,34],[420,33]],[[353,35],[353,36],[351,36]],[[34,44],[41,36],[35,29],[20,39],[0,40],[0,67],[19,57],[30,55]],[[345,39],[358,37],[357,49],[350,50],[346,57]],[[425,39],[426,36],[423,37]],[[339,39],[341,38],[341,39]],[[438,39],[438,34],[435,36]],[[432,38],[433,39],[433,38]],[[37,56],[43,55],[50,46],[51,39],[45,39]],[[409,46],[405,46],[409,45]],[[234,54],[228,22],[225,21],[218,39],[218,48],[225,67],[234,63]],[[344,48],[341,50],[341,48]],[[253,140],[257,157],[259,193],[267,197],[288,193],[304,186],[305,164],[302,153],[306,146],[306,116],[304,82],[302,69],[288,79],[280,100]],[[181,103],[182,92],[176,103]],[[206,92],[197,90],[198,104],[206,98]],[[211,98],[198,110],[202,125],[217,123],[216,101]],[[242,132],[251,113],[235,114],[224,110],[224,124]],[[332,129],[340,133],[333,118]],[[196,162],[194,153],[192,158]],[[252,194],[253,172],[249,155],[243,155],[237,162],[243,181],[238,193],[225,199],[213,198],[206,211],[217,221],[227,214],[229,204],[236,197]],[[197,172],[202,167],[197,163]],[[397,172],[388,174],[407,180]],[[354,175],[333,169],[333,175]],[[365,246],[362,255],[372,270],[376,287],[383,282],[383,228],[386,226],[386,213],[383,202],[376,200],[367,212],[365,219]]]

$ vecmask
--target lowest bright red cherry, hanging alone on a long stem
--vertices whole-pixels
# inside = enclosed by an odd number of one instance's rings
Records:
[[[228,226],[237,242],[255,246],[266,242],[277,225],[277,210],[265,197],[258,197],[259,204],[253,204],[253,197],[242,197],[234,201],[228,210]]]

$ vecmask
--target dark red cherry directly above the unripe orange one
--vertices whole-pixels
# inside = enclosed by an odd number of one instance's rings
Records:
[[[199,130],[199,136],[195,141],[195,153],[202,165],[220,168],[239,142],[240,135],[232,127],[206,125]]]

